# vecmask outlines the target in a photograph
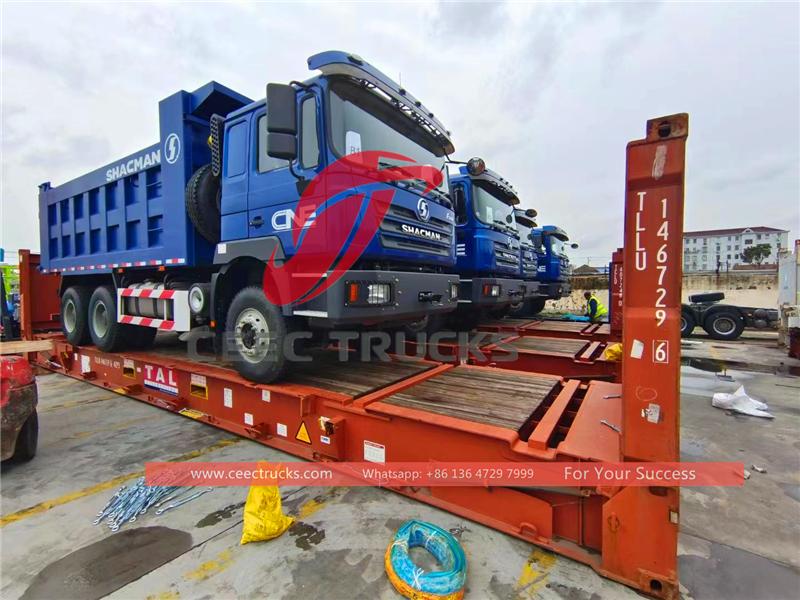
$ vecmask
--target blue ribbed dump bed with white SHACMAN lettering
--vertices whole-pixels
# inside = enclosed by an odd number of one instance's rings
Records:
[[[189,221],[184,190],[211,160],[211,115],[250,102],[213,81],[177,92],[159,103],[157,144],[58,187],[40,185],[41,268],[85,273],[209,263],[213,245]]]

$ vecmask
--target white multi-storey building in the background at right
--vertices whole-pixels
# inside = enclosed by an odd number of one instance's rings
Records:
[[[748,251],[757,246],[762,246],[761,252]],[[778,254],[788,247],[789,232],[774,227],[687,231],[683,234],[683,271],[777,270]],[[748,253],[756,254],[749,262]]]

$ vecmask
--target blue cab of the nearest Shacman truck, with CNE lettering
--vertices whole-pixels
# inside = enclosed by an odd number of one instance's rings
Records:
[[[445,154],[453,148],[449,134],[433,113],[359,57],[324,52],[309,59],[309,68],[323,74],[299,84],[270,84],[266,103],[252,103],[225,119],[215,262],[274,256],[280,266],[300,254],[311,263],[333,262],[352,240],[359,255],[338,283],[316,296],[301,289],[309,300],[290,297],[283,305],[286,316],[338,326],[452,310],[457,277],[447,177],[426,189],[407,174],[414,164],[444,171]],[[348,187],[357,174],[337,171],[334,176],[346,183],[330,177],[318,182],[323,189],[317,195],[326,203],[314,211],[306,205],[301,214],[301,196],[311,182],[337,161],[362,153],[380,156],[358,185]],[[399,177],[371,179],[369,168],[396,169]],[[367,205],[387,192],[391,204],[374,234],[354,235],[370,225]],[[347,194],[358,200],[356,193],[364,194],[359,210],[342,208]]]

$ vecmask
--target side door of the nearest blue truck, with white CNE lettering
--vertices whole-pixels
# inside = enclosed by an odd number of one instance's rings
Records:
[[[323,168],[320,102],[313,92],[298,94],[297,101],[299,157],[293,167],[295,173],[310,181]],[[267,110],[269,107],[256,112],[252,123],[254,157],[247,198],[248,237],[277,234],[284,252],[291,255],[295,252],[291,232],[301,229],[309,215],[295,214],[300,191],[289,163],[267,155]]]

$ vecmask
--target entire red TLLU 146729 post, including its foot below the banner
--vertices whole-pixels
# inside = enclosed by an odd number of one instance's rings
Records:
[[[623,256],[622,435],[625,460],[677,461],[683,175],[688,116],[647,123],[628,144]],[[675,487],[628,487],[603,506],[602,570],[660,598],[678,597]]]

